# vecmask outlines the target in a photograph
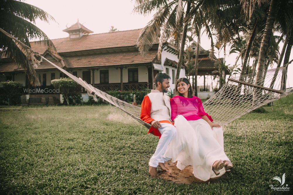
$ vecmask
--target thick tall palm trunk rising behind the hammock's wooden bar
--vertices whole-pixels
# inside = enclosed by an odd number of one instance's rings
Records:
[[[277,3],[278,3],[278,0],[271,0],[270,2],[268,18],[265,24],[265,32],[263,33],[263,39],[261,40],[260,50],[258,54],[257,72],[262,72],[264,69],[265,55],[267,53],[268,44],[270,42],[270,36],[272,34],[272,29],[273,29],[275,18],[276,18]],[[262,83],[262,80],[263,80],[262,74],[258,74],[255,80],[255,84],[259,85],[260,83]]]

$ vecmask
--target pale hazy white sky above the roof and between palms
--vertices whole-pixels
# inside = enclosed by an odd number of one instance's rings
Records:
[[[86,28],[93,31],[93,34],[109,32],[111,26],[117,30],[131,30],[143,28],[152,19],[154,12],[150,15],[140,15],[133,12],[135,0],[27,0],[28,4],[37,6],[56,20],[50,23],[36,21],[36,25],[44,31],[50,39],[67,37],[68,33],[62,30],[70,27],[79,20]],[[195,37],[195,39],[197,39]],[[216,38],[214,38],[214,43]],[[210,49],[210,40],[203,33],[200,45],[205,49]],[[283,43],[279,44],[280,50]],[[215,55],[218,56],[217,48]],[[224,57],[223,49],[219,52],[220,58]],[[237,54],[229,55],[229,46],[226,47],[226,65],[234,65]],[[293,58],[291,52],[290,60]],[[251,62],[252,63],[252,62]],[[241,62],[239,61],[239,67]],[[276,67],[276,65],[274,65]],[[274,68],[273,67],[273,68]],[[207,78],[206,78],[207,80]],[[210,80],[210,77],[209,77]],[[208,81],[210,82],[210,81]],[[289,86],[293,87],[293,63],[288,67]],[[198,79],[198,85],[203,85],[203,77]],[[288,86],[288,85],[287,85]]]

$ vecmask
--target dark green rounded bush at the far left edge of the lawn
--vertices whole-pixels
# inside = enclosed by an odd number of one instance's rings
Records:
[[[21,84],[17,81],[1,82],[4,93],[0,94],[0,104],[21,104]]]

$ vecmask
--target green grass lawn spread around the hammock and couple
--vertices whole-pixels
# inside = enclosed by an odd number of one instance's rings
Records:
[[[227,177],[190,185],[149,177],[158,138],[114,106],[0,111],[0,194],[290,194],[293,95],[263,108],[225,126]]]

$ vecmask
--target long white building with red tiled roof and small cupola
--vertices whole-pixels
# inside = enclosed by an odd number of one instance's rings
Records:
[[[141,30],[91,34],[91,30],[76,22],[64,29],[68,37],[52,39],[56,50],[40,42],[30,44],[46,59],[101,90],[140,90],[153,87],[157,72],[175,72],[174,65],[164,65],[165,59],[178,62],[176,48],[169,43],[164,44],[160,60],[157,59],[158,43],[154,43],[149,53],[139,53],[137,39]],[[45,61],[35,70],[40,87],[52,87],[52,79],[66,76]],[[184,76],[185,71],[181,72],[180,76]],[[23,70],[6,58],[0,59],[0,73],[0,81],[15,80],[23,87],[29,86]],[[174,83],[175,74],[171,80]]]

